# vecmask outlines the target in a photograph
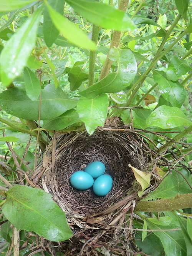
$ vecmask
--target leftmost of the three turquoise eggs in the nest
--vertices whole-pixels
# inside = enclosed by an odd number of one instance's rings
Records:
[[[89,173],[85,173],[84,171],[76,171],[71,175],[70,183],[78,190],[86,190],[93,186],[94,180]]]

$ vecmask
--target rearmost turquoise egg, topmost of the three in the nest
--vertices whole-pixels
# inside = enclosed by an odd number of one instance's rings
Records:
[[[84,171],[86,173],[89,173],[94,179],[96,179],[99,176],[103,175],[103,173],[105,172],[105,166],[103,163],[95,161],[86,166]]]

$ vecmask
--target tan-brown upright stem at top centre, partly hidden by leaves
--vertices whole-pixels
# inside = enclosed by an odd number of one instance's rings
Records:
[[[121,0],[120,5],[119,5],[119,10],[126,12],[128,2],[129,2],[129,0]],[[112,37],[112,40],[110,43],[109,51],[112,47],[118,47],[120,39],[121,39],[121,31],[115,30],[113,32],[113,37]],[[112,62],[113,61],[109,60],[109,52],[108,52],[107,58],[105,60],[103,68],[101,70],[101,75],[99,77],[99,80],[103,79],[106,75],[108,75]]]

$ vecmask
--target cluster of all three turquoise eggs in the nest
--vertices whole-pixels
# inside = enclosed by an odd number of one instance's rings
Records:
[[[110,175],[104,174],[105,166],[95,161],[86,166],[84,171],[76,171],[71,175],[70,183],[78,190],[86,190],[93,186],[97,196],[105,196],[112,188],[113,180]]]

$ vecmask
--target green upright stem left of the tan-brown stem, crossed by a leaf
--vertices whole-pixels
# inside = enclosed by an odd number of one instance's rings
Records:
[[[91,40],[97,44],[100,27],[93,24]],[[95,71],[95,58],[96,51],[90,51],[89,53],[89,86],[94,83],[94,71]]]

